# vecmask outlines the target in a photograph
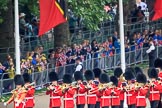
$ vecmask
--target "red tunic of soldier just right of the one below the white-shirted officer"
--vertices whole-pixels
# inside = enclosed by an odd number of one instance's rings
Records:
[[[96,104],[98,87],[95,84],[90,84],[91,89],[87,92],[87,104]]]

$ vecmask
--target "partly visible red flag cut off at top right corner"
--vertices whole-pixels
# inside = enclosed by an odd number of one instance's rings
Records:
[[[154,11],[155,14],[152,18],[153,21],[162,18],[162,0],[156,0],[154,5]]]

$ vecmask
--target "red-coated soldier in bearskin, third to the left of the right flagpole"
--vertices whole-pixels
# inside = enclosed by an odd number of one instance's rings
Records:
[[[101,87],[100,87],[101,86]],[[111,106],[111,83],[106,73],[100,75],[99,92],[101,94],[101,108],[109,108]]]

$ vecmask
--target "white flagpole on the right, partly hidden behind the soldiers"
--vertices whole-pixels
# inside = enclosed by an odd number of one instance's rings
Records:
[[[121,68],[125,72],[125,45],[124,45],[124,19],[123,19],[123,0],[119,0],[119,27],[120,27],[120,50],[121,50]],[[128,108],[127,105],[127,96],[124,93],[124,108]]]

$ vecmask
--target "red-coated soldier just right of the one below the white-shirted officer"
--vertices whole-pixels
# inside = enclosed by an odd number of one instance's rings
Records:
[[[96,94],[98,92],[98,87],[94,83],[94,73],[91,70],[87,70],[84,74],[88,84],[87,84],[87,104],[88,108],[95,108],[96,105]]]

